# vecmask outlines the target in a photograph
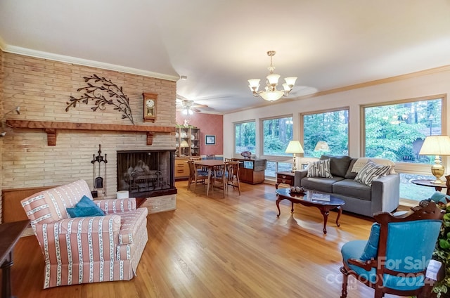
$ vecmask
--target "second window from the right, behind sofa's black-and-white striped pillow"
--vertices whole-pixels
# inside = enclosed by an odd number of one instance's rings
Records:
[[[349,109],[302,115],[304,157],[348,155]]]

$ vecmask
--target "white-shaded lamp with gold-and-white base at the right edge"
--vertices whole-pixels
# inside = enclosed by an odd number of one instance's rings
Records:
[[[420,148],[419,155],[436,155],[435,164],[431,166],[431,172],[436,177],[435,184],[445,184],[440,178],[444,176],[444,166],[439,155],[450,155],[450,136],[427,136]]]

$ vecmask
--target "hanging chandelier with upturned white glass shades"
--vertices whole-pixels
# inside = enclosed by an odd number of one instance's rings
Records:
[[[275,56],[275,51],[268,51],[267,56],[270,57],[270,66],[267,67],[270,74],[266,77],[267,86],[264,88],[264,91],[258,91],[260,79],[249,79],[248,86],[250,87],[253,96],[261,96],[266,101],[278,101],[281,96],[288,96],[289,92],[294,88],[297,77],[286,77],[284,79],[285,83],[283,84],[283,90],[276,90],[280,74],[274,74],[275,67],[272,65],[272,57]]]

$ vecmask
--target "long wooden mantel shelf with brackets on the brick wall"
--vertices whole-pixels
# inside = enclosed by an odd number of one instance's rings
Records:
[[[77,122],[53,122],[53,121],[29,121],[29,120],[6,120],[8,127],[16,129],[44,129],[47,134],[47,145],[56,145],[56,131],[66,130],[94,130],[94,131],[131,131],[145,132],[147,134],[147,145],[153,143],[153,134],[175,132],[175,127],[150,127],[138,125],[122,124],[97,124],[97,123],[77,123]]]

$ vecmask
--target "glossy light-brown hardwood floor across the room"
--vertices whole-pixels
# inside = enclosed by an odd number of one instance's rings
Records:
[[[34,235],[21,238],[12,267],[13,294],[53,297],[340,297],[340,247],[366,239],[372,221],[330,212],[327,235],[319,209],[280,204],[275,187],[242,183],[206,197],[176,182],[177,209],[148,216],[149,240],[131,281],[53,287],[42,290],[44,258]],[[349,298],[373,297],[373,290],[349,280]],[[395,297],[386,295],[386,297]]]

